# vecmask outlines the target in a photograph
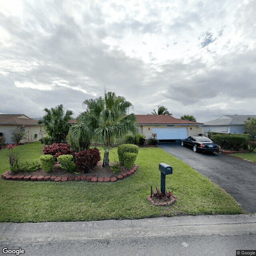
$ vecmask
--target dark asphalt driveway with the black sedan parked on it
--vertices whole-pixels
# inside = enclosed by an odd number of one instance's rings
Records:
[[[221,153],[195,153],[179,143],[159,147],[219,184],[246,212],[256,212],[256,164]]]

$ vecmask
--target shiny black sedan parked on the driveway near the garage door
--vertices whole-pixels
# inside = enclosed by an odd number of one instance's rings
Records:
[[[219,145],[205,136],[189,136],[181,141],[181,146],[193,148],[194,152],[218,152]]]

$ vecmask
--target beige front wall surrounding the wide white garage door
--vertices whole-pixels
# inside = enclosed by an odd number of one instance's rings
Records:
[[[168,128],[168,127],[174,127],[174,128],[184,128],[186,127],[188,130],[188,136],[197,136],[198,134],[202,134],[203,130],[200,126],[184,126],[184,125],[177,125],[177,126],[167,126],[167,125],[139,125],[139,130],[141,134],[144,134],[146,138],[151,138],[152,135],[152,129],[153,128]]]

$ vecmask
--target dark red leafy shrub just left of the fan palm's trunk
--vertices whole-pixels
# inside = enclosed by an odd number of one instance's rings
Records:
[[[98,148],[90,148],[75,154],[76,166],[79,172],[88,172],[100,161],[100,151]]]

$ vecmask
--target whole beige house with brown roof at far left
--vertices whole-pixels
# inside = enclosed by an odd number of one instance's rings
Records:
[[[29,118],[24,114],[0,114],[0,134],[4,136],[6,144],[12,144],[11,132],[19,127],[25,127],[27,137],[21,142],[34,142],[46,136],[44,124],[37,124],[37,120]],[[37,134],[35,139],[34,135]]]

